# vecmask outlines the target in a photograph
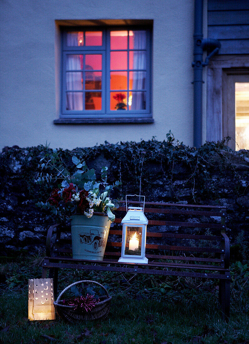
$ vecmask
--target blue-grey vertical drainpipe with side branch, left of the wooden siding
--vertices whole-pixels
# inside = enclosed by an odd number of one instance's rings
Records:
[[[203,39],[203,0],[194,2],[194,147],[202,145],[202,69],[210,58],[219,51],[220,42],[214,39]],[[212,50],[202,61],[203,51]]]

